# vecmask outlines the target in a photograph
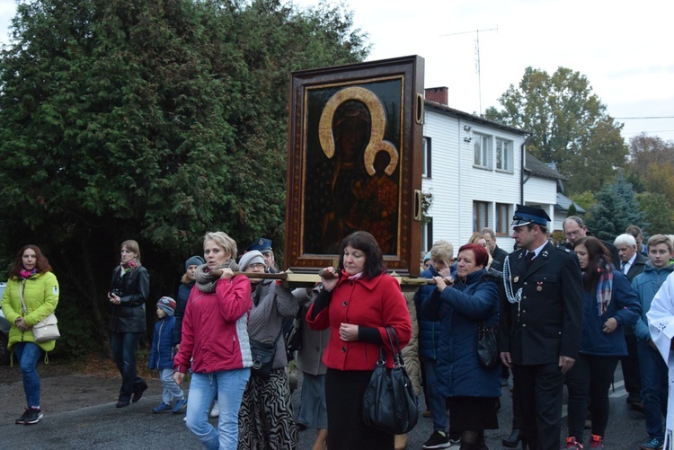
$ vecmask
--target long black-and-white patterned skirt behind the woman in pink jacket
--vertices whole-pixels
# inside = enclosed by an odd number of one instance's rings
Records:
[[[239,410],[239,450],[292,450],[297,438],[285,369],[273,369],[269,380],[251,375]]]

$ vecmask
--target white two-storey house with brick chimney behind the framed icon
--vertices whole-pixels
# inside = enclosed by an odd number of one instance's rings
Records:
[[[440,87],[426,89],[423,135],[422,190],[432,203],[422,249],[445,239],[457,251],[475,231],[490,227],[499,247],[511,251],[517,204],[543,207],[554,221],[561,175],[528,170],[527,131],[449,108],[448,88]]]

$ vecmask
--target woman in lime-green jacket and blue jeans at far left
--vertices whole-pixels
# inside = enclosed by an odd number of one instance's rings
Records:
[[[7,347],[13,350],[21,366],[23,391],[28,406],[23,415],[15,420],[17,424],[31,425],[42,419],[40,376],[36,366],[44,352],[54,349],[56,341],[37,344],[32,326],[54,313],[57,304],[58,281],[51,273],[49,260],[37,246],[24,246],[16,255],[3,296],[4,316],[12,323]]]

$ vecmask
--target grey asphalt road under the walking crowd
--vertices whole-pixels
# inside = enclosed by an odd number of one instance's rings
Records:
[[[605,437],[607,449],[637,449],[646,440],[643,415],[628,408],[626,396],[618,366],[615,387],[610,393],[611,417]],[[293,394],[296,408],[298,397],[296,391]],[[129,408],[120,410],[114,407],[114,402],[110,402],[80,410],[46,414],[34,426],[3,423],[0,424],[0,449],[199,449],[196,438],[185,428],[182,415],[153,414],[150,411],[150,407],[159,401],[160,395],[149,395]],[[6,407],[0,405],[0,408]],[[421,404],[420,410],[424,409]],[[499,412],[501,429],[486,432],[487,445],[491,449],[503,448],[501,439],[510,434],[511,419],[510,390],[504,387]],[[431,432],[430,419],[421,417],[419,424],[409,433],[407,448],[420,449]],[[565,433],[563,419],[563,435]],[[586,432],[586,443],[589,435]],[[298,450],[310,450],[315,432],[306,430],[300,432],[299,436]]]

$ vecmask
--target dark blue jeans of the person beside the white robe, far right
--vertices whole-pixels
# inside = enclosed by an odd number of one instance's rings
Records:
[[[667,415],[667,365],[660,352],[649,344],[637,344],[639,366],[642,372],[643,413],[649,437],[664,439],[662,416]]]

